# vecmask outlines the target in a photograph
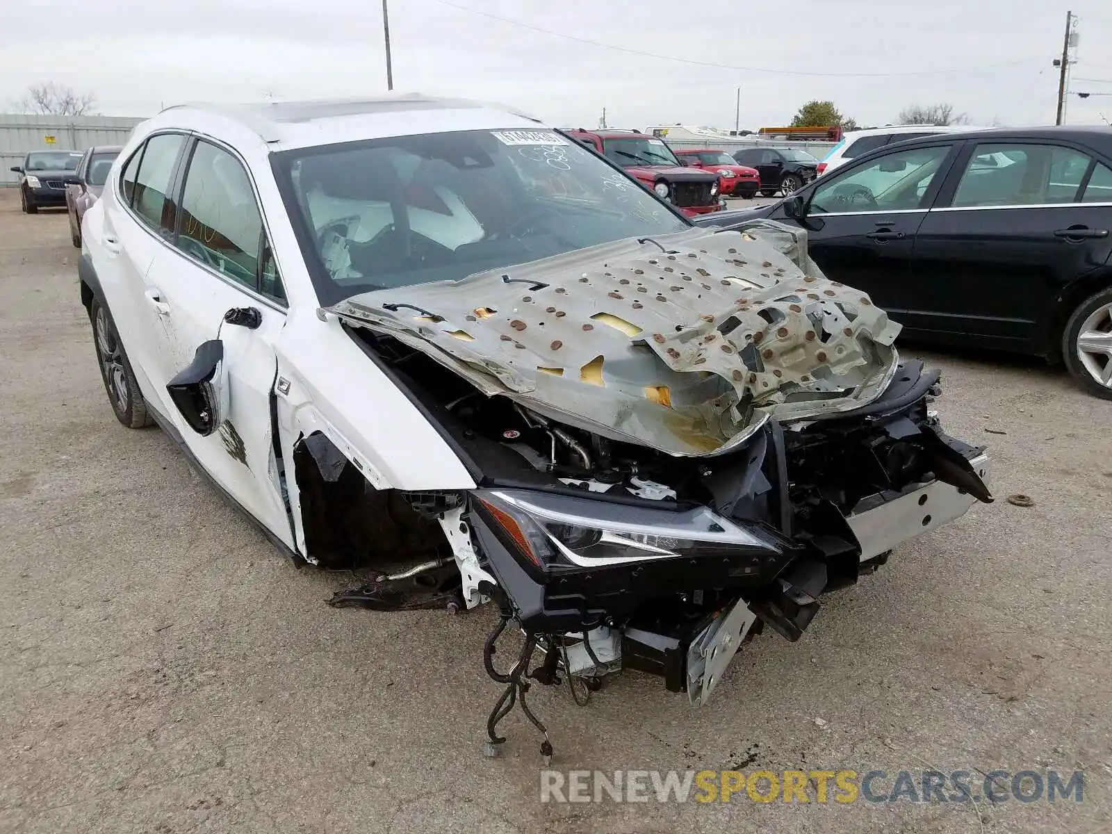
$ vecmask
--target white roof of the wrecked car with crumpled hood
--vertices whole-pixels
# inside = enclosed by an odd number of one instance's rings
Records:
[[[151,129],[186,128],[217,138],[252,137],[267,143],[269,150],[286,150],[454,130],[536,129],[543,122],[498,105],[390,93],[366,99],[177,105],[148,123]]]

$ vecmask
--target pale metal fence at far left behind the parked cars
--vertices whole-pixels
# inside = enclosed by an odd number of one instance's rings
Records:
[[[19,165],[29,150],[85,150],[95,145],[123,145],[140,121],[123,116],[0,113],[0,186],[14,186],[19,181],[11,167]]]

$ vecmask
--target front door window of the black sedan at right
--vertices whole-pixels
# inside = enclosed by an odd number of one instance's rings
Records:
[[[815,189],[808,214],[857,214],[921,208],[950,152],[949,145],[887,153]]]

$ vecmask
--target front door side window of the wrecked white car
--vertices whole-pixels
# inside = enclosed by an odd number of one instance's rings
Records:
[[[178,248],[258,288],[262,217],[247,171],[226,150],[198,142],[181,192]]]

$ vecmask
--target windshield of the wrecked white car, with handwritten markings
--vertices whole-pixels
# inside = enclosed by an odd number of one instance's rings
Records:
[[[325,305],[688,228],[550,130],[390,137],[272,163]]]

